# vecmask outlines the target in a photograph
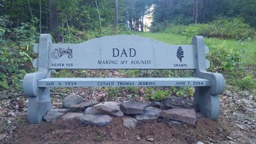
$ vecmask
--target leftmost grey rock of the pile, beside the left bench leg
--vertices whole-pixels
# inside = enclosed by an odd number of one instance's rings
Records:
[[[67,113],[68,109],[50,109],[46,115],[44,115],[44,120],[46,122],[54,122],[65,113]]]

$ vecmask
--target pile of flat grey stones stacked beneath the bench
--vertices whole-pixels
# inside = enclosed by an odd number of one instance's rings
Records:
[[[122,117],[125,127],[135,127],[139,120],[168,118],[194,125],[196,103],[179,97],[166,97],[162,102],[97,102],[70,95],[63,100],[63,109],[51,109],[44,116],[46,122],[76,119],[80,124],[106,125],[112,117]]]

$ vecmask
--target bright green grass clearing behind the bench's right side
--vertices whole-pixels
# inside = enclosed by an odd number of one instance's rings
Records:
[[[135,33],[135,35],[145,36],[159,40],[166,44],[191,44],[192,38],[186,38],[186,36],[176,35],[168,31],[159,33]],[[226,45],[227,48],[232,49],[244,49],[245,56],[243,61],[246,65],[256,65],[256,41],[236,41],[236,40],[223,40],[218,38],[205,38],[205,43],[209,44],[214,42],[215,45]],[[211,47],[210,47],[211,50]]]

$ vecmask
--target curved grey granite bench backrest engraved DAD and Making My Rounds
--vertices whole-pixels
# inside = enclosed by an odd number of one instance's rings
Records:
[[[34,51],[39,53],[33,62],[35,68],[195,70],[198,63],[209,67],[206,45],[168,45],[131,35],[104,36],[80,44],[51,44],[51,36],[46,37],[42,40],[45,42],[35,45]],[[198,57],[202,60],[196,60]]]

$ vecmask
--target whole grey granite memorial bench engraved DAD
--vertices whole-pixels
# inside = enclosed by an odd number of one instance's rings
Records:
[[[88,40],[81,44],[52,44],[51,35],[40,35],[33,61],[37,72],[26,74],[22,83],[28,100],[28,119],[40,124],[51,106],[51,87],[76,86],[195,86],[195,101],[201,113],[218,118],[218,94],[225,90],[221,74],[207,72],[209,48],[202,36],[191,45],[168,45],[141,36],[116,35]],[[194,77],[51,77],[57,69],[182,69]]]

